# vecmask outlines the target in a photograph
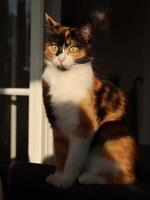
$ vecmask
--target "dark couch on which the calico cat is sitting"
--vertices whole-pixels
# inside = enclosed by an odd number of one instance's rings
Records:
[[[142,149],[137,166],[137,182],[132,185],[80,185],[59,189],[45,182],[54,167],[31,163],[13,163],[9,168],[8,191],[10,200],[150,200],[150,149]]]

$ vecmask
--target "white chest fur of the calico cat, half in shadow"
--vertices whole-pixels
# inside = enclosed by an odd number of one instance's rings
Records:
[[[79,103],[88,96],[88,89],[92,86],[91,64],[76,65],[65,72],[48,65],[42,78],[50,86],[56,124],[67,136],[78,125]]]

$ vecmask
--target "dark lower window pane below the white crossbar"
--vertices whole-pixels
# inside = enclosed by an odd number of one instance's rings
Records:
[[[12,108],[13,106],[13,108]],[[16,160],[28,160],[28,97],[0,96],[0,163],[10,160],[11,131],[15,132],[16,121]],[[10,127],[13,127],[12,129]]]

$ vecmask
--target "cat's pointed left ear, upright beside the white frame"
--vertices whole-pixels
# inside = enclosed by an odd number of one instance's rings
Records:
[[[45,27],[51,31],[57,31],[60,28],[60,24],[56,22],[52,17],[45,13]]]

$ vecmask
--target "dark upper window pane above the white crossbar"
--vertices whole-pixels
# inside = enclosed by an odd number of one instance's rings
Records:
[[[0,1],[0,87],[29,86],[30,4]]]

